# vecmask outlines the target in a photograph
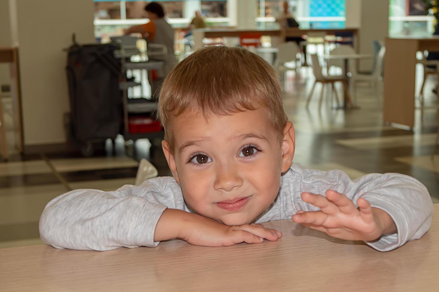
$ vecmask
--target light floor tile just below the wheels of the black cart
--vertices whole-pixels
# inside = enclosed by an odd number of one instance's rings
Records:
[[[130,157],[54,159],[50,162],[58,172],[137,167],[139,165],[136,160]]]

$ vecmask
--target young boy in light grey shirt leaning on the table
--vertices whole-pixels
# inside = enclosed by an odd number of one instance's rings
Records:
[[[159,99],[162,142],[174,178],[114,192],[74,190],[47,204],[41,238],[57,248],[200,246],[276,241],[261,224],[291,218],[379,251],[419,239],[432,200],[403,174],[356,180],[293,163],[295,136],[276,72],[241,48],[208,47],[181,61]]]

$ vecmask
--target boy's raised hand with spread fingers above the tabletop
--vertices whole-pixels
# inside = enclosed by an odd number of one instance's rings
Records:
[[[347,196],[333,190],[326,191],[326,197],[303,192],[302,199],[319,207],[320,211],[299,210],[292,216],[293,221],[332,237],[372,241],[382,234],[396,232],[392,217],[381,209],[371,207],[366,199],[358,199],[358,209]]]

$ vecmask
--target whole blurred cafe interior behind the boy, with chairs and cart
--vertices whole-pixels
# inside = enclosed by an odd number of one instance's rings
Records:
[[[436,0],[157,1],[164,17],[150,3],[0,1],[0,248],[41,244],[64,192],[171,175],[160,85],[202,46],[278,71],[295,162],[408,174],[439,202]]]

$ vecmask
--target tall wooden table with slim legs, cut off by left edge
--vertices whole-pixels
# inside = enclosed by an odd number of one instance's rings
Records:
[[[19,153],[23,152],[23,129],[22,129],[22,110],[21,110],[21,95],[20,95],[20,73],[18,66],[18,48],[1,47],[0,46],[0,63],[11,64],[11,97],[12,110],[14,114],[14,135],[18,144]],[[3,118],[3,106],[0,94],[0,153],[4,159],[8,159],[6,130]]]

